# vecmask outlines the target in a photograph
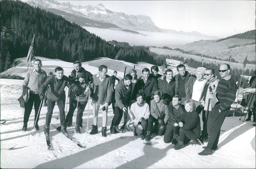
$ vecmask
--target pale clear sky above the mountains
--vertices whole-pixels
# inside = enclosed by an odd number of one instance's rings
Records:
[[[198,31],[224,38],[255,29],[256,1],[76,1],[73,5],[103,4],[128,15],[147,15],[162,29]]]

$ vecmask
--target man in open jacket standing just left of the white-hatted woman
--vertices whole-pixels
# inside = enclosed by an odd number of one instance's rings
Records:
[[[186,71],[184,64],[179,64],[177,66],[177,70],[179,74],[175,76],[175,94],[179,94],[181,97],[181,102],[183,102],[191,99],[196,76],[191,75],[188,71]]]

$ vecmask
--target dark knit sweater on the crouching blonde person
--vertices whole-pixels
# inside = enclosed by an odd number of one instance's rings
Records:
[[[200,137],[200,117],[195,110],[193,110],[192,112],[185,111],[179,118],[178,123],[179,122],[183,122],[184,129],[192,130],[196,134],[196,136],[198,136],[198,138]]]

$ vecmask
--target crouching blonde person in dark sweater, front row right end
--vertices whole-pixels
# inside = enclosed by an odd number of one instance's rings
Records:
[[[185,112],[181,115],[178,120],[178,123],[175,123],[174,126],[180,127],[180,136],[177,138],[178,143],[173,147],[175,150],[179,150],[184,147],[183,141],[187,136],[191,141],[190,144],[202,143],[198,139],[200,137],[200,117],[195,111],[196,105],[192,99],[186,100],[184,102]]]

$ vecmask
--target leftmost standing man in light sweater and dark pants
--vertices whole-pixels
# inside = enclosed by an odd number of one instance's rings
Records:
[[[34,125],[35,125],[36,130],[39,130],[38,120],[39,120],[40,112],[38,114],[38,110],[39,110],[40,102],[41,102],[40,96],[39,96],[39,88],[46,81],[47,74],[44,70],[41,70],[42,61],[40,59],[35,59],[33,63],[34,63],[34,69],[27,71],[24,81],[22,83],[23,95],[26,94],[27,90],[30,90],[29,91],[29,99],[25,103],[22,131],[27,131],[28,119],[31,114],[33,105],[35,108]],[[37,114],[38,114],[38,118],[36,119]]]

